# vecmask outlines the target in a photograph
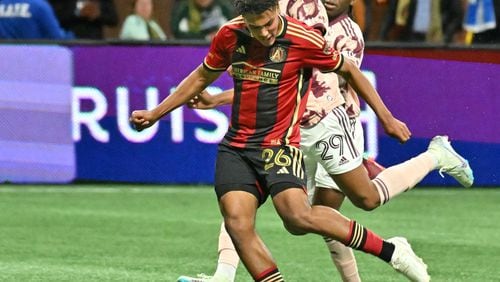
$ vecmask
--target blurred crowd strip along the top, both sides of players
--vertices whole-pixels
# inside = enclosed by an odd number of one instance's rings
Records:
[[[312,1],[312,0],[305,0]],[[366,41],[499,44],[500,0],[356,0]],[[231,0],[0,0],[0,39],[210,41]]]

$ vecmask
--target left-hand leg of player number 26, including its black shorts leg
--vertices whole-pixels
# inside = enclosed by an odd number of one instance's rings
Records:
[[[270,277],[282,281],[269,250],[255,231],[258,207],[266,200],[266,187],[261,187],[244,150],[219,146],[215,167],[215,192],[238,255],[255,281]],[[262,158],[262,154],[258,154]]]

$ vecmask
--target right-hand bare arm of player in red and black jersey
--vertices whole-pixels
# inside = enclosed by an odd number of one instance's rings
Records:
[[[387,135],[403,143],[410,139],[411,132],[406,124],[392,115],[380,98],[377,90],[373,88],[368,79],[353,62],[345,60],[337,73],[354,88],[356,93],[358,93],[368,105],[370,105],[382,123]]]

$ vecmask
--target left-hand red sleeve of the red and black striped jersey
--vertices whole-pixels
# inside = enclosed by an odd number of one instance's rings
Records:
[[[231,65],[231,58],[236,46],[236,34],[227,25],[212,39],[208,54],[203,61],[205,68],[211,71],[225,71]]]

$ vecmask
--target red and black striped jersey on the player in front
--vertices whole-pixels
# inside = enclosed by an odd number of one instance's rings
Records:
[[[312,68],[336,71],[340,53],[328,49],[321,34],[280,16],[282,30],[272,46],[254,39],[243,18],[221,27],[204,66],[225,71],[232,66],[234,99],[231,124],[223,144],[234,147],[299,146]]]

